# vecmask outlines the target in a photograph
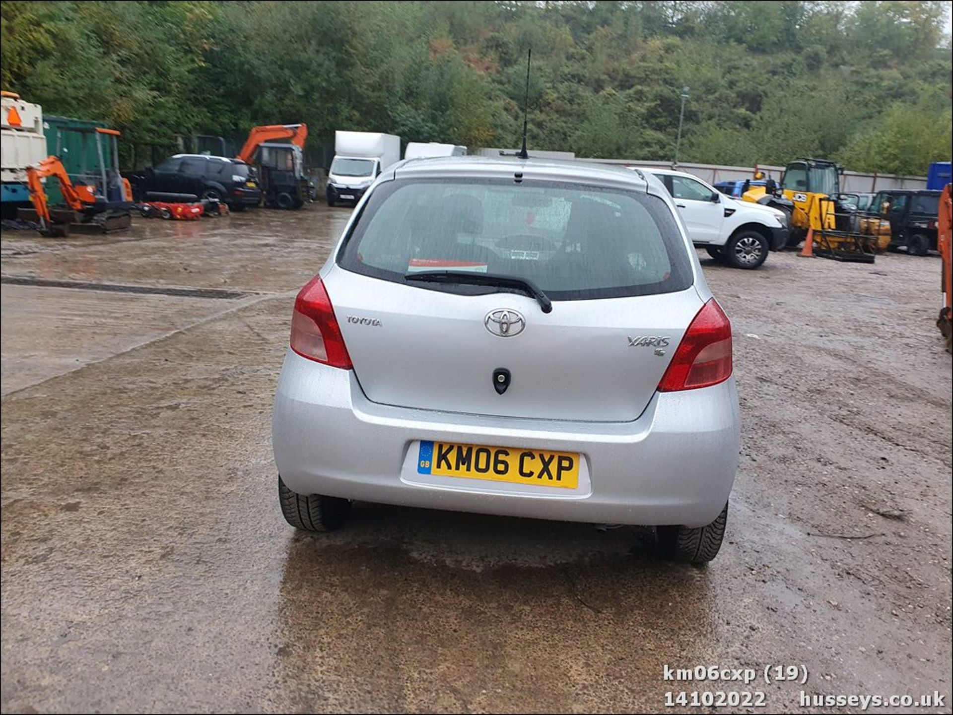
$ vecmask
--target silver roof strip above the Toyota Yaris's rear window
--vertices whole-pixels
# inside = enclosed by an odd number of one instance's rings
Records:
[[[581,181],[645,190],[649,180],[635,171],[567,159],[520,159],[517,156],[431,156],[405,159],[394,166],[395,177],[512,176],[554,181]]]

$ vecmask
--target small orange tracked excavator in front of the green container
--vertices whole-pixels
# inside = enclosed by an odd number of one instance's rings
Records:
[[[116,167],[107,171],[101,167],[102,184],[73,184],[63,162],[57,156],[27,167],[27,188],[30,190],[30,209],[20,209],[21,218],[36,221],[44,236],[67,236],[71,228],[80,232],[108,233],[132,224],[132,187],[128,179],[122,178],[118,170],[118,154],[115,140],[119,132],[115,129],[92,129],[96,132],[97,146],[100,134],[112,138],[112,156]],[[102,156],[102,151],[99,152]],[[112,173],[112,176],[111,176]],[[85,175],[84,175],[85,176]],[[66,207],[51,208],[43,179],[55,178],[59,181],[60,192],[66,201]]]

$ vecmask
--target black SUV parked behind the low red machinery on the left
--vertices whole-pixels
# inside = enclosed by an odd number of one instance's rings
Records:
[[[261,189],[254,168],[239,159],[225,156],[175,154],[129,178],[137,201],[152,193],[193,194],[200,199],[218,199],[234,210],[261,203]],[[172,197],[166,200],[172,200]]]

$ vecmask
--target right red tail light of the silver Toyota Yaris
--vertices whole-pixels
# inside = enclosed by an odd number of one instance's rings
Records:
[[[731,322],[712,298],[688,327],[659,392],[710,387],[731,377]]]

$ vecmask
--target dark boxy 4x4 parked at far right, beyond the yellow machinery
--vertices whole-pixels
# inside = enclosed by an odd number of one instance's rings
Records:
[[[925,256],[937,248],[939,209],[940,191],[891,189],[878,192],[868,213],[890,222],[890,248]]]

